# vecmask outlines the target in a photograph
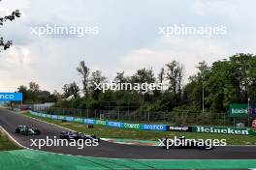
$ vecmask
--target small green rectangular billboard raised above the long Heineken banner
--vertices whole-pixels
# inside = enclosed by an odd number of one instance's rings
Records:
[[[230,104],[229,116],[230,117],[247,117],[248,105],[247,104]]]

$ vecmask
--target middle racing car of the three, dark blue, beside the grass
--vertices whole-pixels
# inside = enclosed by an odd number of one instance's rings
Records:
[[[73,132],[73,131],[61,131],[59,134],[59,138],[61,139],[75,139],[75,140],[79,140],[79,139],[90,139],[90,140],[94,140],[97,139],[97,137],[95,135],[88,135],[88,134],[83,134],[81,132]],[[99,140],[99,139],[98,139]]]

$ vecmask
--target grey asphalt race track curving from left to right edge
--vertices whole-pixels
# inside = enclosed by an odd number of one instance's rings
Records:
[[[15,128],[18,125],[36,126],[41,130],[40,135],[16,134]],[[16,141],[27,148],[31,148],[30,139],[46,139],[47,135],[53,139],[60,131],[66,130],[40,122],[23,115],[0,108],[0,126],[5,128]],[[99,136],[100,137],[100,136]],[[38,148],[32,148],[38,149]],[[44,151],[75,155],[75,156],[98,156],[112,158],[140,158],[140,159],[255,159],[256,147],[218,147],[214,150],[196,149],[172,149],[164,150],[161,147],[134,146],[115,144],[101,141],[97,147],[84,147],[82,150],[77,147],[45,147]]]

